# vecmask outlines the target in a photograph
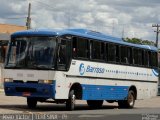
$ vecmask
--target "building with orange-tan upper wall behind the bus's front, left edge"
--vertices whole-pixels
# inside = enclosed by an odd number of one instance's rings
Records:
[[[26,26],[0,24],[0,88],[3,85],[3,63],[10,35],[16,31],[26,30]]]

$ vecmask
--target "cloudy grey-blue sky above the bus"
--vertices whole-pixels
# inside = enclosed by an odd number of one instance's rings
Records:
[[[32,28],[85,28],[116,37],[155,41],[160,0],[0,0],[0,23]]]

